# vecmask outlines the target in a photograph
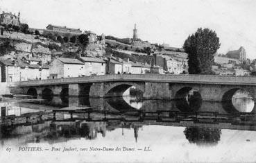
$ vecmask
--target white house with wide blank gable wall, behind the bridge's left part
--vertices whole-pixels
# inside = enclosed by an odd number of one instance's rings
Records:
[[[85,74],[84,62],[73,58],[56,58],[50,63],[50,78],[79,77]]]

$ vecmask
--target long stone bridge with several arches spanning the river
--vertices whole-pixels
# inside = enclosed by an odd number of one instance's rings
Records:
[[[13,94],[47,96],[122,96],[129,87],[137,87],[146,99],[185,99],[192,93],[203,101],[231,101],[238,89],[249,92],[256,100],[256,77],[117,74],[31,80],[9,85]]]

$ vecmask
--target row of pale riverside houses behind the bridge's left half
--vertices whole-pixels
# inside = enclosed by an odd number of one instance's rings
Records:
[[[15,58],[0,60],[0,81],[2,83],[99,76],[105,74],[163,74],[163,68],[147,63],[132,62],[121,58],[55,58],[49,65],[43,65],[38,58]]]

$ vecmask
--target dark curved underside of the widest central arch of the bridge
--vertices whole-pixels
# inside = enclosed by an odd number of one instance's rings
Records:
[[[118,83],[110,83],[106,85],[105,90],[103,92],[104,96],[122,96],[124,92],[130,87],[136,87],[141,92],[145,92],[145,84],[144,83],[133,83],[133,82],[118,82]]]

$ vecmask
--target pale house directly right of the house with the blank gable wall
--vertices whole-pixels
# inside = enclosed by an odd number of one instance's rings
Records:
[[[83,76],[105,75],[107,62],[103,58],[80,57],[84,62]]]

